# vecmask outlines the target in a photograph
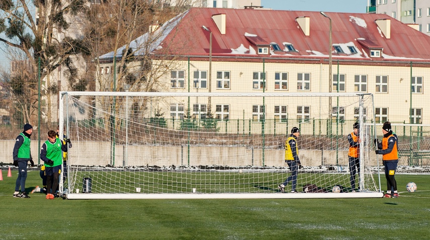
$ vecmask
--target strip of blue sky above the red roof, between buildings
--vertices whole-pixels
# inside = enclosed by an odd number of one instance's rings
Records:
[[[367,0],[261,0],[261,5],[273,10],[366,13]]]

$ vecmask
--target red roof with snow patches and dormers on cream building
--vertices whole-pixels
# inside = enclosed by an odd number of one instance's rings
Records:
[[[226,15],[226,31],[221,34],[213,15]],[[352,44],[359,54],[338,54],[332,49],[332,57],[355,60],[430,60],[430,36],[384,14],[325,13],[332,20],[332,44]],[[305,36],[296,18],[310,18],[310,35]],[[391,38],[386,39],[379,30],[376,20],[391,20]],[[259,57],[250,52],[258,44],[291,43],[297,53],[276,52],[265,58],[326,58],[328,56],[329,20],[319,12],[276,11],[252,9],[193,8],[185,13],[177,28],[163,40],[164,53],[183,56],[207,56],[209,53],[209,33],[202,29],[205,25],[213,33],[212,53],[214,57]],[[257,37],[245,36],[256,35]],[[242,51],[232,51],[239,47]],[[349,45],[348,45],[349,46]],[[382,48],[387,58],[370,59],[363,51],[366,48]],[[244,52],[243,49],[248,49]],[[384,55],[383,55],[384,56]],[[398,59],[396,59],[398,58]],[[409,60],[408,60],[409,59]]]

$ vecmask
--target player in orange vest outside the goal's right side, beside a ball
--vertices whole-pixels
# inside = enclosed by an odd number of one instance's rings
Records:
[[[387,179],[387,192],[384,197],[399,197],[397,192],[397,182],[394,177],[399,162],[398,149],[397,149],[397,136],[393,135],[391,123],[385,122],[382,126],[382,142],[379,143],[378,139],[374,140],[377,150],[376,154],[382,155],[382,164],[385,168],[385,178]]]

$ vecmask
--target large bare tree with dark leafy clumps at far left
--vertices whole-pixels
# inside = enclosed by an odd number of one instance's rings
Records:
[[[48,101],[46,114],[50,119],[50,96],[56,93],[56,84],[51,82],[50,75],[70,56],[83,51],[81,37],[67,32],[72,19],[68,16],[76,16],[87,10],[88,1],[85,0],[0,1],[0,32],[4,34],[0,42],[23,53],[31,68],[22,72],[21,76],[14,76],[16,82],[26,82],[21,95],[13,98],[17,100],[17,109],[21,108],[24,122],[36,121],[39,77],[46,81],[44,97]],[[10,87],[17,94],[16,86]],[[20,102],[18,98],[28,99]]]

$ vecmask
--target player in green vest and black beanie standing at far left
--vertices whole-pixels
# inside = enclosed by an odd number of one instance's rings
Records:
[[[30,151],[30,137],[33,133],[33,127],[30,124],[24,125],[24,131],[18,135],[15,141],[13,158],[14,166],[18,167],[18,178],[15,184],[14,197],[30,198],[25,191],[25,181],[27,179],[27,164],[30,161],[34,166],[33,158]],[[20,192],[21,186],[21,192]]]

